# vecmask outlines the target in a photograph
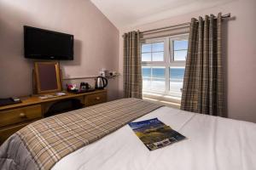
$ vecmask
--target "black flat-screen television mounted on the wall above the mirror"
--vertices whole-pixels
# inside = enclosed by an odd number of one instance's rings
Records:
[[[73,35],[24,26],[24,54],[28,59],[73,60]]]

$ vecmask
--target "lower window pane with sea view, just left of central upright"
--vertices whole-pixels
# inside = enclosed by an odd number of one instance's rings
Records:
[[[166,68],[152,67],[151,89],[164,91],[166,88]]]

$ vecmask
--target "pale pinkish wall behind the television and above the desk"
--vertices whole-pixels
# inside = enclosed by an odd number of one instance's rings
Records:
[[[33,60],[23,56],[24,25],[74,35],[74,60],[61,61],[63,77],[118,70],[119,31],[90,0],[0,0],[0,98],[32,94]],[[72,82],[80,81],[94,82]],[[117,97],[118,80],[110,80],[108,99]]]

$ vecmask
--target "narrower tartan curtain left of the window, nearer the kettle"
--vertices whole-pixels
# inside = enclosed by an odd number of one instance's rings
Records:
[[[142,64],[140,32],[131,31],[124,35],[124,92],[125,98],[142,99]]]

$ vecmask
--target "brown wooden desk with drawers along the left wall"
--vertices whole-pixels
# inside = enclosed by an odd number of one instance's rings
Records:
[[[39,99],[38,95],[21,97],[22,103],[0,107],[0,144],[27,124],[44,118],[49,107],[64,99],[79,99],[84,106],[107,102],[107,90],[96,90],[84,94],[67,93],[50,99]]]

